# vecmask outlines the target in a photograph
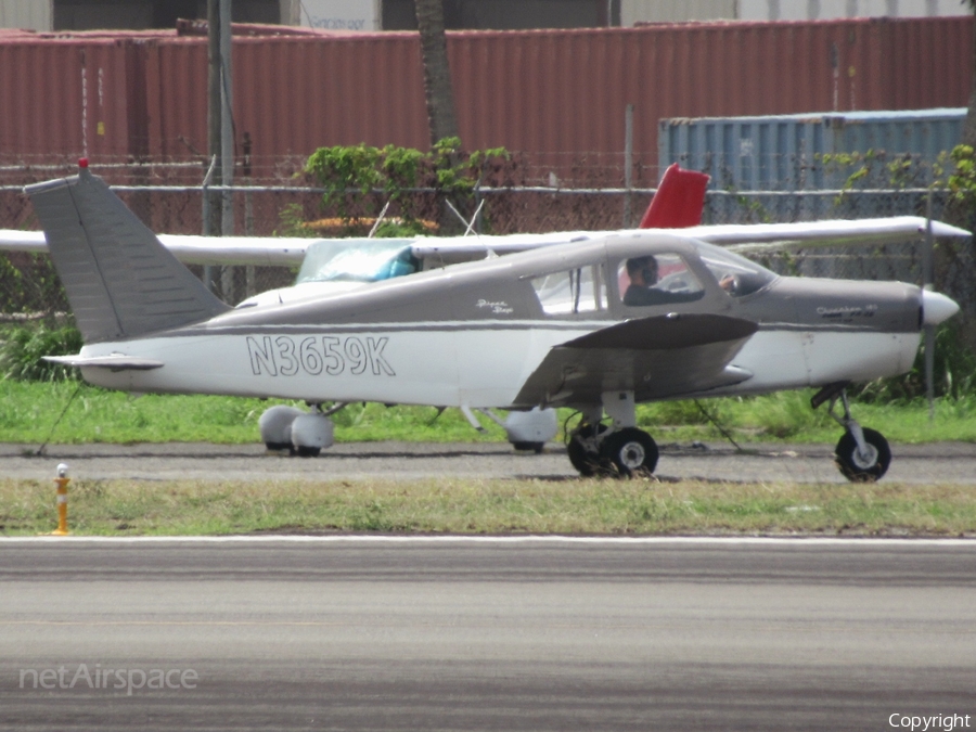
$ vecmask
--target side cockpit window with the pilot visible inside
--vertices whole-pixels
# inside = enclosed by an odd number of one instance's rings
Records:
[[[624,305],[630,307],[692,303],[705,296],[684,259],[671,253],[625,259],[617,268],[617,284]]]

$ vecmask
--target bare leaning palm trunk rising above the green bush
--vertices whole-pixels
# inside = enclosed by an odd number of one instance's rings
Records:
[[[451,89],[447,37],[444,33],[444,0],[415,0],[415,10],[424,64],[431,144],[434,145],[445,138],[458,137],[454,92]]]

